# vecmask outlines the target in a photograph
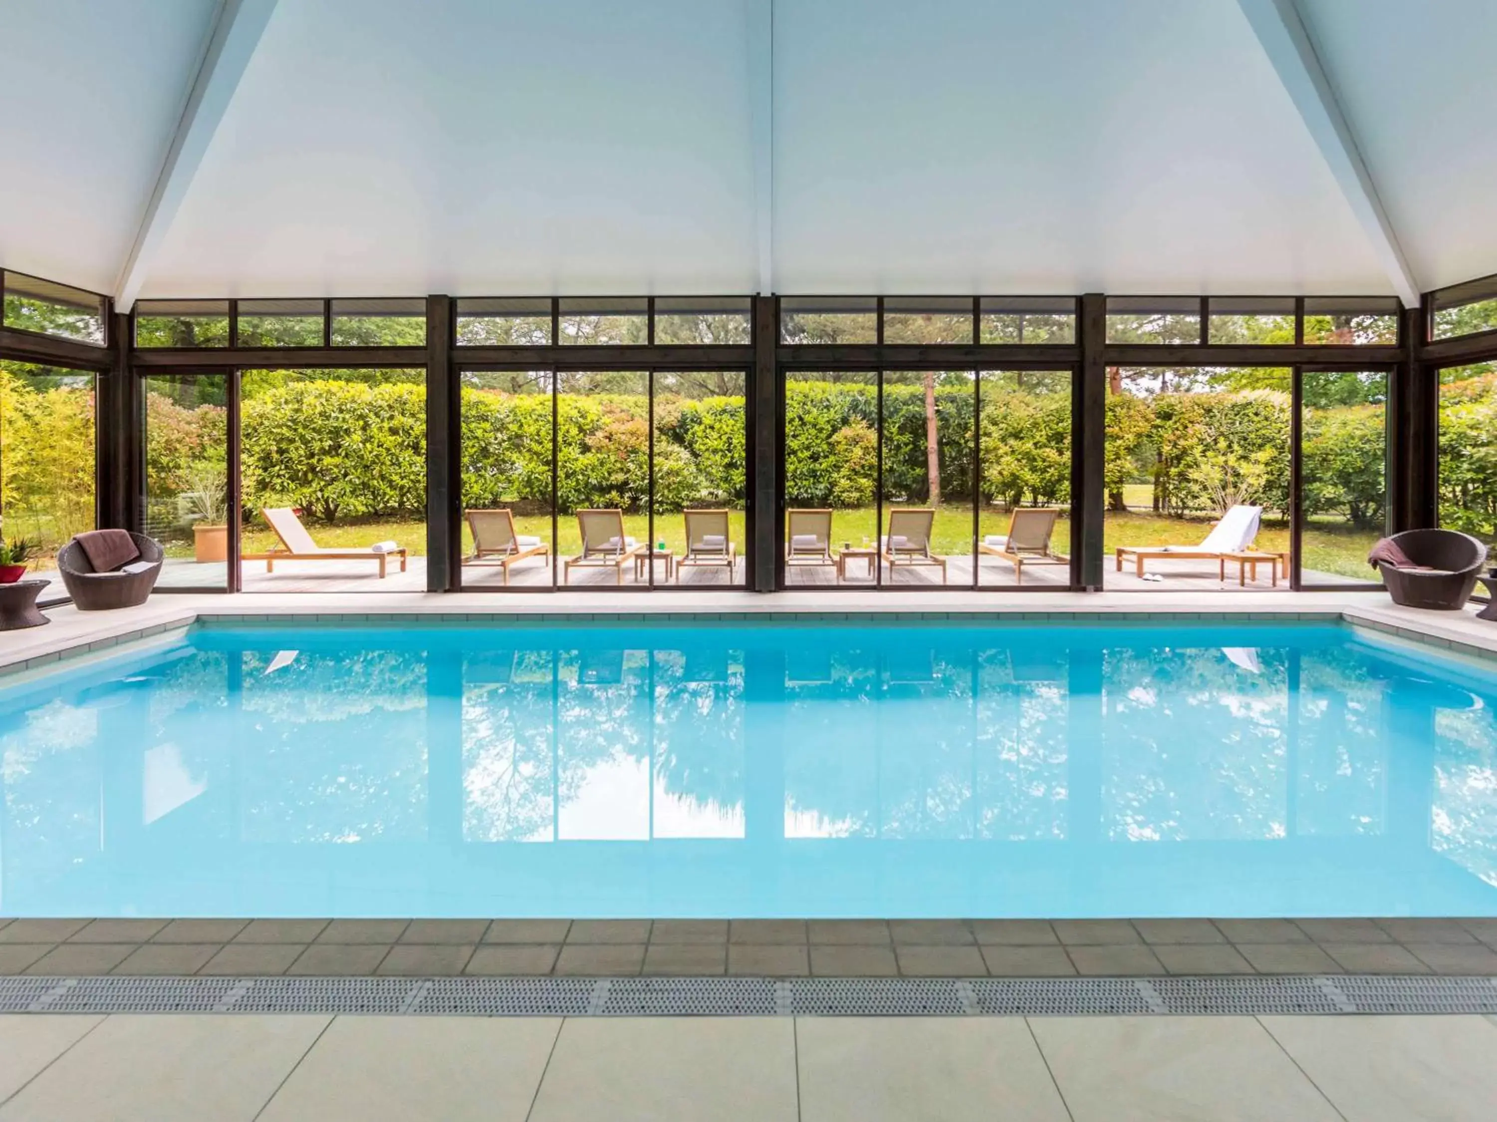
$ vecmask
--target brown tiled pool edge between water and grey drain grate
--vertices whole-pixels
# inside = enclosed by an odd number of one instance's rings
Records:
[[[1497,977],[1497,917],[0,920],[3,977]]]

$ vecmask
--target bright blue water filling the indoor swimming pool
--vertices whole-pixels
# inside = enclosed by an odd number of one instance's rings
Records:
[[[1319,624],[198,630],[0,690],[0,916],[1494,916],[1494,714]]]

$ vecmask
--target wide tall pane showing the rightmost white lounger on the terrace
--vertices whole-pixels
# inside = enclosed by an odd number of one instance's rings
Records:
[[[1281,368],[1108,370],[1106,588],[1287,589],[1289,390]]]

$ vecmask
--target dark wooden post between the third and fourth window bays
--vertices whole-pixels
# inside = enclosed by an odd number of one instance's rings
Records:
[[[1106,513],[1108,371],[1106,298],[1081,298],[1081,365],[1070,395],[1070,579],[1088,592],[1102,591],[1102,519]]]

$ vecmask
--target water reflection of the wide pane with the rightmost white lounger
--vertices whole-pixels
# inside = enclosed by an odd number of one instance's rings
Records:
[[[1103,826],[1112,839],[1284,835],[1287,652],[1259,673],[1220,648],[1103,654]]]

